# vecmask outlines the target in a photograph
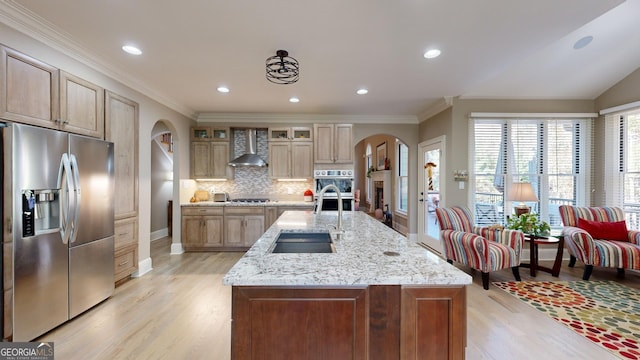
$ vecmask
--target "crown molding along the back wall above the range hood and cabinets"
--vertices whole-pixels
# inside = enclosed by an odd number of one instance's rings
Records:
[[[414,115],[322,115],[273,113],[200,113],[198,123],[351,123],[351,124],[418,124]]]

